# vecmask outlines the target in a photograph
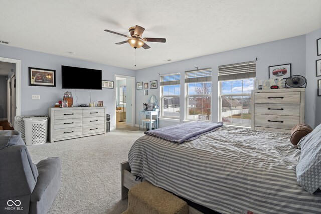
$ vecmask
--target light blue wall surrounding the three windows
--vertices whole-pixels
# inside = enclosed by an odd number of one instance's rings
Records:
[[[148,96],[143,95],[143,90],[136,90],[135,123],[138,124],[138,112],[142,109],[142,103],[147,102],[151,95],[155,95],[159,100],[159,75],[157,73],[162,75],[176,72],[181,73],[180,122],[183,122],[185,114],[184,72],[194,70],[196,67],[198,67],[198,69],[212,68],[212,121],[217,122],[218,66],[252,61],[255,60],[256,57],[258,58],[256,62],[257,79],[268,79],[269,66],[288,63],[291,63],[292,75],[305,76],[305,35],[138,70],[136,73],[136,82],[148,82],[149,84],[149,81],[157,80],[158,87],[157,89],[149,89]],[[173,124],[175,123],[168,121],[159,122],[160,127]]]

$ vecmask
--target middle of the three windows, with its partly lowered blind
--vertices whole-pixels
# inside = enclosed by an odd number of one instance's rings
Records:
[[[211,121],[212,69],[185,72],[186,120]]]

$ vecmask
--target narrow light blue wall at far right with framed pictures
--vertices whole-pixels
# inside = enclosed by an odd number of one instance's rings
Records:
[[[317,96],[317,80],[321,77],[315,74],[315,60],[321,59],[321,56],[316,56],[316,40],[319,38],[321,29],[305,35],[305,121],[313,128],[321,123],[321,97]]]

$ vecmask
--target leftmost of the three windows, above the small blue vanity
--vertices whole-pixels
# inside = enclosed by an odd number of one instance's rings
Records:
[[[161,76],[161,117],[180,118],[180,74]]]

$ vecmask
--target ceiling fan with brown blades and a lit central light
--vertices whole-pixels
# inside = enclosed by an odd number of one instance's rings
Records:
[[[134,49],[140,48],[140,47],[142,47],[143,49],[149,49],[150,47],[145,42],[166,43],[165,38],[148,38],[148,37],[141,38],[141,35],[145,29],[143,27],[138,26],[138,25],[136,25],[135,27],[131,27],[128,30],[129,30],[130,36],[120,34],[120,33],[114,32],[114,31],[109,31],[109,30],[105,30],[105,31],[128,38],[128,40],[122,41],[119,43],[115,43],[115,45],[121,45],[121,44],[128,42],[129,45],[131,47],[133,47]]]

